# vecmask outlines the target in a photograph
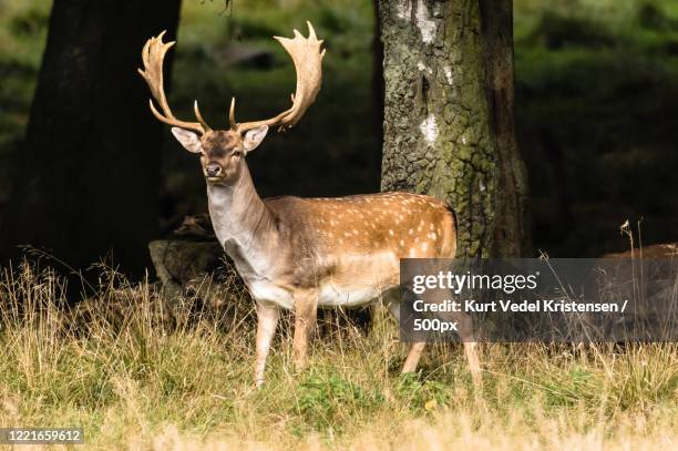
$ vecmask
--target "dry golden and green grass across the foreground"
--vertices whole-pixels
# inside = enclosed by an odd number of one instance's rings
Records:
[[[251,383],[249,303],[228,315],[170,308],[150,284],[102,278],[69,309],[63,280],[29,266],[0,278],[0,427],[85,429],[92,448],[670,449],[675,344],[493,345],[474,393],[462,352],[439,347],[401,377],[397,328],[315,340],[291,372],[289,327],[268,382]],[[117,314],[116,314],[117,312]],[[120,315],[122,312],[122,315]],[[73,327],[76,325],[76,327]]]

